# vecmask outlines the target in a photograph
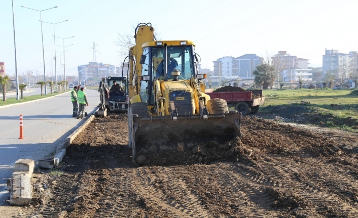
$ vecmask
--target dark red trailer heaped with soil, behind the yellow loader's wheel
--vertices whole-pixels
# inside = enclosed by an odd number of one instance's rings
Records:
[[[255,114],[259,111],[260,105],[265,102],[262,96],[262,90],[245,90],[235,86],[223,86],[220,89],[205,90],[205,94],[211,99],[224,99],[229,107],[235,107],[235,110],[242,115]]]

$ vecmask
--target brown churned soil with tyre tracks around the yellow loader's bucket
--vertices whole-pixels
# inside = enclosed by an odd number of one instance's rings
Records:
[[[356,135],[254,116],[241,132],[138,166],[127,115],[95,118],[37,177],[26,217],[357,216]]]

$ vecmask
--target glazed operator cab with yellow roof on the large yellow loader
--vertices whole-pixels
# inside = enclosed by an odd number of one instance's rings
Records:
[[[151,41],[142,46],[140,99],[154,105],[153,81],[189,81],[196,78],[197,54],[192,41]],[[166,63],[166,67],[165,67]],[[148,94],[151,93],[150,96]]]

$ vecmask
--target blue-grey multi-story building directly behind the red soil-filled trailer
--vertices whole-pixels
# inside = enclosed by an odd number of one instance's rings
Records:
[[[256,54],[246,54],[232,60],[232,76],[244,79],[254,79],[256,66],[262,64],[263,58]]]

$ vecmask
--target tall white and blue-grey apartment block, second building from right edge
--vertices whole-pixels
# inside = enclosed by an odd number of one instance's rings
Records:
[[[339,53],[338,50],[327,50],[323,55],[323,70],[322,77],[325,78],[327,72],[331,72],[339,78],[339,69],[342,66],[348,67],[348,54]]]

